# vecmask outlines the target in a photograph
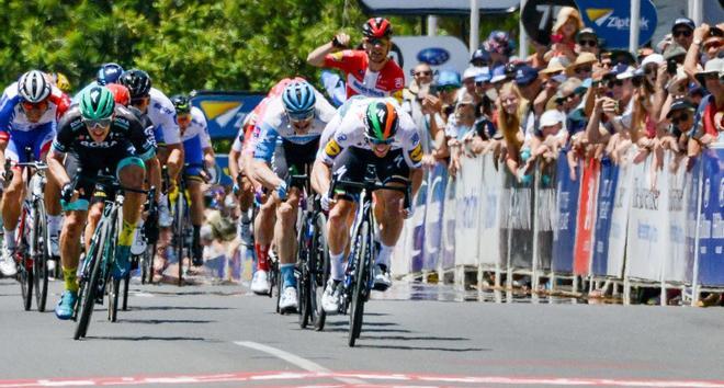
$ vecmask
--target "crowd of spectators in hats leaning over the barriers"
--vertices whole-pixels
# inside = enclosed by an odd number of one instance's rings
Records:
[[[452,174],[463,152],[494,152],[525,184],[535,162],[564,150],[576,180],[582,160],[618,163],[632,145],[634,162],[653,155],[663,169],[672,152],[672,168],[690,167],[724,140],[723,30],[679,18],[653,46],[611,50],[564,7],[551,45],[534,44],[528,58],[512,56],[509,35],[495,31],[462,75],[419,64],[403,106],[425,129],[425,162],[446,161]]]

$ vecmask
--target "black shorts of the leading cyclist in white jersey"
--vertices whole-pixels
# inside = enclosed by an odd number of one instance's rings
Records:
[[[374,155],[372,150],[349,147],[335,159],[332,173],[338,180],[362,182],[364,179],[374,179],[386,183],[392,179],[408,180],[410,169],[405,162],[401,149],[387,152],[384,158]],[[347,194],[349,198],[357,196],[360,189],[336,190],[338,194]]]

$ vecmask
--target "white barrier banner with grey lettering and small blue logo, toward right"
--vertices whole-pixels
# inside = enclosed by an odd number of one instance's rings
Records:
[[[629,277],[660,281],[668,248],[668,176],[652,172],[653,158],[634,166],[626,246]]]

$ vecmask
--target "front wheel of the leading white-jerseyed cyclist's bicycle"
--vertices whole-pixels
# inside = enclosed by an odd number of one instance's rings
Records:
[[[369,266],[366,265],[367,249],[370,241],[367,235],[370,224],[363,221],[358,231],[360,237],[360,247],[354,253],[354,279],[352,282],[352,301],[350,304],[350,330],[348,336],[348,344],[354,346],[355,340],[360,336],[362,331],[362,317],[364,315],[364,298],[369,276]]]

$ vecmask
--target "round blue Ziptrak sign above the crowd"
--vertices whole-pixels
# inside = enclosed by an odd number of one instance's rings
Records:
[[[576,0],[586,26],[604,39],[608,49],[629,49],[631,1]],[[654,36],[657,23],[656,7],[652,0],[641,0],[638,45]]]

